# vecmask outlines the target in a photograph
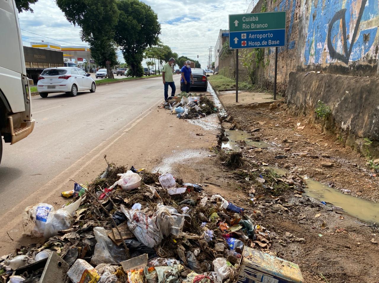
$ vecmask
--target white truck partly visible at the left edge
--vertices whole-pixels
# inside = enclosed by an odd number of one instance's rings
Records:
[[[14,144],[34,128],[19,19],[14,0],[0,0],[0,162],[3,141]]]

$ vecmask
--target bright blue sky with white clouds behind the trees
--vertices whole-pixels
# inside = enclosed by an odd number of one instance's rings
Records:
[[[228,29],[228,14],[246,12],[251,0],[142,0],[158,14],[160,39],[179,56],[197,59],[203,68],[208,63],[208,48],[215,47],[220,29]],[[34,13],[19,14],[23,44],[51,42],[85,46],[80,28],[71,25],[53,0],[38,0]],[[212,52],[213,56],[213,52]],[[124,62],[121,52],[119,61]],[[214,59],[212,60],[214,61]],[[144,63],[143,63],[144,64]]]

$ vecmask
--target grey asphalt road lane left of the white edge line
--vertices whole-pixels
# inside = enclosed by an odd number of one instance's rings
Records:
[[[161,80],[109,84],[98,87],[95,93],[81,92],[76,97],[61,93],[47,98],[33,96],[34,131],[14,145],[3,144],[0,215],[163,101]]]

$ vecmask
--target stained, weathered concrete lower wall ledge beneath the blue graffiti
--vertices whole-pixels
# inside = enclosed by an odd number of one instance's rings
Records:
[[[379,78],[317,73],[290,73],[287,103],[291,111],[340,137],[362,154],[379,156]],[[330,107],[326,120],[316,117],[317,101]],[[367,147],[363,138],[373,143]]]

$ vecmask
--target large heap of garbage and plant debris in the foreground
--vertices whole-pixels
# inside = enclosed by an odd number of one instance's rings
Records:
[[[296,264],[269,254],[273,234],[254,210],[205,184],[108,163],[62,196],[72,201],[58,210],[25,209],[24,233],[44,242],[1,257],[2,282],[302,282]]]

